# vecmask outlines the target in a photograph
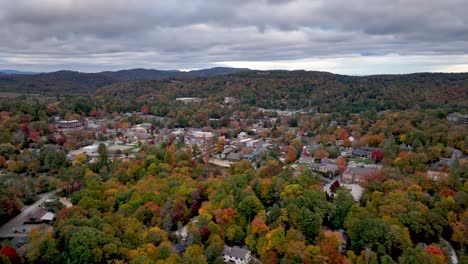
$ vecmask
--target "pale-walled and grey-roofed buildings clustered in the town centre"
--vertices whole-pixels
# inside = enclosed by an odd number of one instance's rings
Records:
[[[206,98],[198,97],[183,97],[177,98],[176,101],[184,103],[203,102]],[[224,98],[224,104],[235,103],[237,100],[232,97]],[[62,131],[73,131],[76,129],[84,129],[89,131],[99,131],[106,127],[106,133],[109,139],[105,142],[108,149],[113,150],[109,157],[113,158],[120,156],[123,158],[132,158],[133,154],[129,151],[137,152],[138,146],[142,144],[162,144],[163,142],[178,140],[188,146],[197,146],[202,153],[210,154],[210,162],[223,167],[229,167],[232,163],[241,160],[248,160],[256,168],[259,161],[262,160],[273,149],[279,149],[279,159],[285,159],[286,145],[277,137],[269,137],[272,135],[272,126],[280,120],[281,123],[287,123],[292,115],[301,113],[301,111],[290,110],[269,110],[257,109],[260,112],[268,113],[276,112],[278,117],[259,117],[257,119],[238,119],[236,116],[231,117],[231,124],[236,123],[239,126],[248,123],[248,129],[243,129],[242,132],[232,131],[230,135],[226,135],[226,130],[214,130],[212,128],[169,128],[170,126],[158,126],[155,124],[167,124],[169,121],[164,117],[157,117],[148,114],[138,113],[139,120],[147,120],[147,122],[139,123],[128,128],[110,128],[112,123],[119,121],[120,117],[115,117],[112,120],[86,118],[84,120],[57,120],[55,125]],[[124,117],[130,117],[134,114],[124,114]],[[236,120],[237,119],[237,120]],[[466,115],[452,113],[448,119],[457,123],[465,123]],[[235,120],[235,121],[234,121]],[[333,125],[335,121],[331,121]],[[335,122],[336,123],[336,122]],[[162,127],[162,128],[160,128]],[[292,129],[293,133],[295,130]],[[266,133],[265,133],[266,132]],[[97,133],[97,132],[96,132]],[[268,136],[265,136],[268,135]],[[304,135],[296,135],[297,138]],[[382,166],[374,164],[371,161],[372,153],[375,148],[362,147],[344,147],[343,140],[336,140],[332,145],[338,149],[339,155],[345,158],[350,158],[347,165],[338,165],[336,159],[323,158],[315,159],[313,153],[319,148],[326,146],[318,143],[309,143],[304,146],[302,155],[297,163],[308,166],[311,170],[321,173],[326,178],[339,177],[344,184],[360,184],[368,175],[372,175],[379,171]],[[349,142],[354,141],[353,136],[349,136]],[[328,144],[330,145],[330,144]],[[327,146],[328,146],[327,145]],[[79,153],[85,153],[92,158],[97,157],[97,144],[83,147],[69,153],[69,158],[73,159]],[[453,163],[463,156],[459,150],[452,149],[450,151],[452,157],[441,158],[439,163]],[[340,167],[341,166],[341,167]],[[437,171],[436,169],[434,171]]]

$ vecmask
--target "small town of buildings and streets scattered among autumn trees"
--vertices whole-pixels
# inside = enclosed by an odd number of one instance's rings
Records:
[[[176,98],[175,102],[182,105],[199,105],[206,103],[207,99]],[[235,109],[238,100],[226,97],[219,104],[223,108]],[[389,114],[386,112],[380,115]],[[318,135],[309,134],[310,132],[304,132],[304,129],[298,127],[298,120],[303,122],[310,116],[321,121],[317,124],[317,129],[322,131]],[[21,163],[21,156],[27,159],[26,155],[40,156],[43,151],[55,153],[47,162],[51,166],[49,173],[57,173],[53,167],[58,169],[66,163],[102,169],[103,164],[135,162],[141,159],[148,147],[164,148],[165,163],[174,162],[171,161],[174,157],[169,157],[168,152],[173,152],[172,155],[175,152],[185,155],[189,153],[190,158],[187,156],[187,161],[196,166],[195,170],[204,167],[204,173],[209,172],[218,178],[227,177],[227,171],[232,171],[237,166],[251,167],[260,177],[275,174],[275,171],[288,171],[289,177],[300,177],[309,173],[317,177],[327,197],[333,199],[336,191],[344,188],[348,190],[354,202],[359,204],[364,186],[369,179],[382,177],[381,171],[384,169],[384,151],[379,148],[384,140],[383,135],[362,137],[359,133],[349,130],[355,120],[346,120],[341,125],[329,114],[320,114],[314,109],[251,108],[250,115],[245,117],[240,117],[234,112],[232,116],[209,118],[204,121],[213,124],[213,127],[180,126],[174,118],[150,114],[145,105],[137,112],[115,114],[91,111],[89,116],[71,119],[72,117],[64,119],[59,115],[51,115],[47,124],[49,134],[39,130],[27,131],[30,147],[22,149],[17,158],[5,161],[2,174],[41,174],[34,167],[27,164],[21,166],[18,163]],[[455,113],[449,115],[446,122],[464,125],[465,119],[466,116]],[[222,126],[219,125],[221,122]],[[3,145],[2,148],[7,146]],[[401,153],[410,153],[413,146],[402,142],[398,148]],[[461,150],[446,147],[442,151],[447,154],[434,159],[424,172],[425,177],[434,183],[448,179],[447,168],[468,163],[468,157]],[[151,171],[164,173],[167,170],[164,168],[163,164],[155,166],[151,163],[147,170],[151,174]],[[88,173],[91,171],[86,174]],[[129,179],[124,179],[126,180]],[[66,196],[79,191],[83,188],[82,184],[77,180],[63,182],[56,185],[55,189],[38,195],[39,200],[21,209],[19,215],[0,228],[0,238],[9,240],[20,254],[26,254],[31,232],[50,232],[58,208],[73,206]],[[294,184],[289,186],[293,188]],[[294,192],[294,189],[290,191]],[[268,215],[271,211],[266,213]],[[193,234],[188,230],[197,224],[198,217],[195,214],[186,225],[179,226],[174,231],[174,253],[182,255],[193,243]],[[337,248],[339,252],[347,249],[349,238],[345,230],[323,227],[322,232],[325,236],[336,236],[340,241]],[[230,245],[225,244],[222,251],[225,262],[261,262],[252,255],[246,244]]]

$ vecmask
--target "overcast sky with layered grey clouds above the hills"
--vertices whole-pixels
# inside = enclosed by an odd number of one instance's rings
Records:
[[[468,72],[466,0],[0,0],[0,69]]]

